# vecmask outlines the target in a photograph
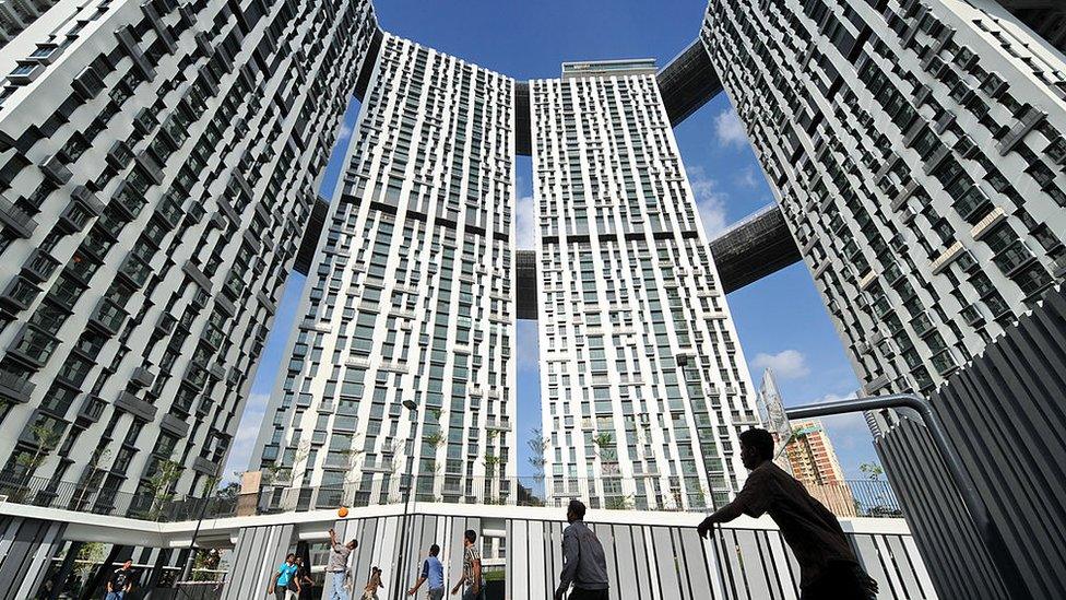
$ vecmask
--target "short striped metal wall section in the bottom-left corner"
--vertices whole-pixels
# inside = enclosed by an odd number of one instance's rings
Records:
[[[66,525],[0,516],[0,598],[34,598]]]

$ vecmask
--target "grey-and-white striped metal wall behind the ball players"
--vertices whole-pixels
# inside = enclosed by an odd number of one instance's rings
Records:
[[[695,519],[694,525],[698,521]],[[494,531],[489,536],[506,539],[502,597],[543,600],[550,598],[558,581],[565,525],[525,518],[417,514],[406,519],[350,518],[336,521],[335,529],[340,539],[354,538],[359,542],[351,558],[357,589],[362,589],[371,566],[383,570],[386,589],[381,598],[391,597],[394,586],[406,589],[414,583],[431,543],[441,545],[446,578],[453,583],[462,560],[463,531],[473,529],[479,534]],[[606,551],[612,600],[798,598],[798,567],[777,530],[726,528],[712,543],[700,540],[691,526],[596,522],[593,527]],[[241,530],[224,598],[261,597],[284,553],[305,538],[283,526]],[[874,532],[851,533],[850,538],[866,569],[880,583],[878,598],[936,597],[910,536]],[[401,545],[405,560],[398,565]],[[491,561],[486,557],[486,563]]]

